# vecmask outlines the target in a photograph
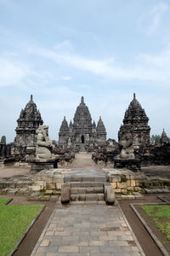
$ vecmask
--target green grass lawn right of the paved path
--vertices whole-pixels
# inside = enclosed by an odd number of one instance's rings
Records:
[[[144,206],[142,209],[170,241],[170,206]]]

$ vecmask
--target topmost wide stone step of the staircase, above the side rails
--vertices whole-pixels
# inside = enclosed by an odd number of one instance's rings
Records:
[[[105,175],[99,176],[70,176],[66,175],[64,178],[65,183],[71,182],[106,182],[107,177]]]

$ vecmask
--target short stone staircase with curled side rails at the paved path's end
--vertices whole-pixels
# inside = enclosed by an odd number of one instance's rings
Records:
[[[109,199],[109,197],[110,199]],[[111,203],[115,194],[105,175],[98,176],[66,176],[61,189],[61,201],[83,201],[94,203]]]

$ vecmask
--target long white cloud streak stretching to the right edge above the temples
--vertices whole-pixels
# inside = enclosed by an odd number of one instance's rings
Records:
[[[94,73],[110,80],[139,79],[141,81],[170,82],[170,48],[164,49],[156,55],[139,54],[134,57],[133,65],[122,65],[113,57],[106,60],[88,59],[74,52],[60,52],[56,49],[31,49],[35,55],[41,55],[57,65],[76,67],[82,71]],[[162,84],[161,84],[162,85]]]

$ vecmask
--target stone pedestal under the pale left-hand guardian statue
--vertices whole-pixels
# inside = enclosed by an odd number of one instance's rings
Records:
[[[36,159],[31,160],[31,173],[37,173],[44,169],[54,169],[57,168],[58,159]]]

